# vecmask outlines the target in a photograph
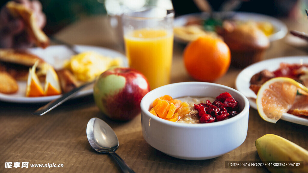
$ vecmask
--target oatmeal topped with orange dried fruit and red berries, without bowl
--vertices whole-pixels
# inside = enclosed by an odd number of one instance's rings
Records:
[[[164,95],[154,100],[149,110],[155,116],[179,123],[212,123],[236,116],[238,102],[229,93],[210,97],[181,97]]]

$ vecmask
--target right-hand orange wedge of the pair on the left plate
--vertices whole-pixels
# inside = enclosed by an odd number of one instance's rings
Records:
[[[59,95],[61,94],[61,87],[57,73],[54,68],[49,66],[45,79],[45,95]]]

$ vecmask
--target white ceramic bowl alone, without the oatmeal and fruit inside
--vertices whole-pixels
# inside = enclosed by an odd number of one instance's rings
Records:
[[[153,101],[163,95],[213,97],[229,92],[241,112],[219,122],[204,124],[176,123],[149,113]],[[157,150],[172,157],[203,160],[221,156],[239,147],[246,139],[249,102],[239,91],[207,82],[180,82],[161,86],[146,94],[140,103],[144,139]]]

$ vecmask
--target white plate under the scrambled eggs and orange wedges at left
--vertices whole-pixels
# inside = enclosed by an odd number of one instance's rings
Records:
[[[46,49],[31,48],[29,50],[31,53],[38,55],[40,58],[44,59],[46,62],[54,66],[55,69],[62,68],[64,61],[70,59],[71,56],[73,55],[72,51],[63,45],[48,46]],[[104,56],[112,58],[122,58],[123,59],[122,66],[128,66],[126,56],[115,50],[103,47],[83,46],[83,45],[76,45],[76,50],[78,52],[95,51]],[[93,93],[93,85],[90,85],[84,88],[83,90],[79,91],[74,98],[90,95],[92,93]],[[18,92],[11,95],[0,93],[0,100],[13,103],[46,103],[50,102],[51,100],[57,99],[61,96],[61,95],[54,95],[45,97],[25,97],[25,95],[26,95],[26,81],[18,81]]]

